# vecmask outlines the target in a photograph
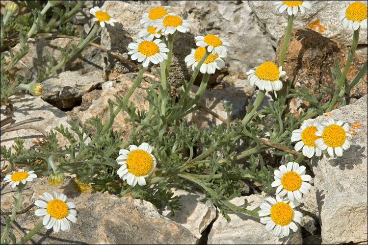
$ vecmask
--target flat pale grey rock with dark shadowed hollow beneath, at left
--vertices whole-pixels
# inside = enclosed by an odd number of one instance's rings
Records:
[[[101,87],[102,82],[102,73],[98,71],[85,75],[66,71],[42,82],[41,98],[59,109],[70,108],[80,102],[84,94]]]

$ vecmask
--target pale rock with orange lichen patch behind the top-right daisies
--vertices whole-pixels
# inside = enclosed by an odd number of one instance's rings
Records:
[[[338,12],[352,2],[347,0],[311,1],[311,9],[306,9],[304,15],[299,10],[295,15],[293,27],[309,26],[324,37],[336,39],[344,45],[351,45],[353,31],[342,27]],[[367,1],[361,2],[367,5]],[[260,28],[269,35],[276,47],[277,41],[285,34],[288,25],[287,11],[280,13],[272,1],[248,1],[248,4],[257,16]],[[367,45],[367,29],[360,31],[359,44]]]

